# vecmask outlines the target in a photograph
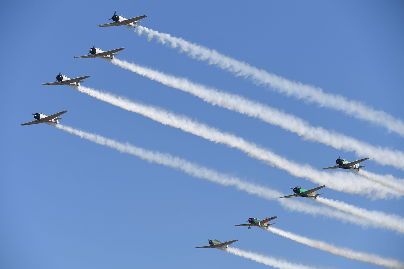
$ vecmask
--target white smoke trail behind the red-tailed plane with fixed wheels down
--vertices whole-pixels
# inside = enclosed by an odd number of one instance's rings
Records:
[[[307,237],[296,235],[294,233],[290,233],[287,231],[282,231],[281,229],[276,229],[276,228],[270,227],[270,226],[265,227],[265,229],[268,231],[271,231],[272,233],[276,233],[283,237],[289,238],[295,242],[299,242],[301,244],[311,246],[312,248],[318,248],[320,250],[330,252],[334,255],[349,258],[351,260],[363,261],[366,263],[372,263],[374,265],[380,265],[380,266],[384,266],[384,267],[392,268],[392,269],[404,268],[404,263],[402,263],[398,260],[395,260],[393,258],[383,258],[383,257],[381,257],[377,254],[373,254],[373,253],[369,254],[366,252],[355,251],[355,250],[352,250],[349,248],[334,246],[333,244],[328,244],[324,241],[309,239]]]

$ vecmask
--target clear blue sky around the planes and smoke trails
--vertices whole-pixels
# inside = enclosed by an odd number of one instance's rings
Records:
[[[365,169],[404,178],[372,156],[356,156],[234,111],[212,106],[101,59],[74,59],[92,46],[125,47],[117,57],[278,107],[311,125],[372,145],[402,150],[403,138],[369,122],[259,87],[191,59],[126,27],[97,27],[114,11],[146,14],[142,25],[321,87],[403,118],[404,4],[398,1],[276,2],[107,1],[2,2],[0,30],[3,117],[0,263],[4,268],[134,268],[265,265],[212,249],[206,239],[318,267],[373,268],[267,233],[234,227],[249,217],[278,216],[279,229],[337,246],[402,260],[403,235],[387,229],[289,212],[234,187],[150,164],[56,128],[31,113],[67,110],[62,124],[196,162],[288,194],[314,188],[237,149],[215,144],[125,111],[67,86],[43,86],[59,72],[90,75],[84,86],[163,107],[271,148],[301,164],[332,166],[338,156],[370,157]],[[346,171],[349,173],[349,171]],[[324,188],[324,197],[368,210],[404,215],[402,200],[375,200]],[[296,198],[298,199],[298,198]],[[305,202],[305,198],[300,198]]]

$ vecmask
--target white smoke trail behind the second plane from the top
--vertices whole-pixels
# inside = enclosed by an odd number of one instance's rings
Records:
[[[107,59],[109,60],[109,58]],[[269,124],[280,126],[290,132],[297,133],[299,136],[303,136],[304,139],[323,143],[336,149],[355,151],[358,156],[372,156],[373,159],[377,159],[378,164],[393,165],[400,169],[404,168],[404,153],[402,151],[373,146],[335,131],[311,126],[308,122],[295,115],[284,113],[276,108],[269,107],[257,101],[248,100],[239,95],[222,92],[215,88],[208,88],[204,85],[191,82],[186,78],[177,78],[123,60],[112,59],[109,62],[151,80],[156,80],[166,86],[189,92],[212,105],[225,107],[250,117],[259,118]]]

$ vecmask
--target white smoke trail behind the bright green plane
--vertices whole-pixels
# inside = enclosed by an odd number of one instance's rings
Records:
[[[365,208],[359,208],[345,202],[323,197],[318,197],[315,200],[316,202],[320,202],[327,206],[337,208],[338,210],[351,213],[354,216],[367,219],[368,221],[372,221],[373,223],[377,223],[389,229],[399,231],[400,233],[404,233],[404,219],[396,214],[386,214],[376,210],[368,211]]]

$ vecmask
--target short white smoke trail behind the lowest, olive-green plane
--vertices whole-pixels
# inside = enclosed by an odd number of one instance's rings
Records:
[[[264,256],[262,254],[258,254],[257,252],[252,252],[252,251],[245,251],[241,250],[239,248],[219,248],[220,250],[227,251],[231,254],[243,257],[243,258],[248,258],[251,259],[252,261],[256,261],[258,263],[263,263],[265,265],[269,265],[275,268],[280,268],[280,269],[296,269],[296,268],[302,268],[302,269],[316,269],[316,267],[309,266],[309,265],[303,265],[301,263],[290,263],[287,260],[284,259],[278,259],[274,258],[271,256]]]

